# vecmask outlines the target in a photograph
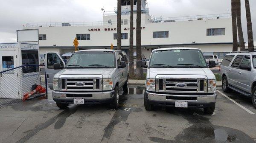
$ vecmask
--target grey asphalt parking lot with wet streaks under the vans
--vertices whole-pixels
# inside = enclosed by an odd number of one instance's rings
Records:
[[[31,100],[0,109],[0,143],[256,143],[250,98],[220,92],[212,115],[193,108],[145,111],[144,89],[134,87],[117,110],[106,104],[61,110],[52,99]]]

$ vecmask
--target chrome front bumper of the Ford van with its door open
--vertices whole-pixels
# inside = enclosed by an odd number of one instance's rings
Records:
[[[83,98],[84,104],[109,103],[113,100],[114,90],[102,92],[63,92],[52,91],[56,103],[73,104],[74,98]],[[72,97],[73,96],[73,97]]]

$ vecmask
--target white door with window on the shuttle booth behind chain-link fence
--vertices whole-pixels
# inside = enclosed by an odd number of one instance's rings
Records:
[[[12,69],[17,66],[15,50],[1,51],[0,71]],[[19,96],[19,69],[0,73],[0,98],[20,98]],[[14,97],[13,95],[17,95]]]

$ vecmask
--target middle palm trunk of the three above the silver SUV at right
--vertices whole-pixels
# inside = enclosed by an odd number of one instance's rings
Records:
[[[240,0],[236,0],[236,20],[237,20],[237,29],[238,29],[238,37],[239,37],[239,47],[240,47],[240,50],[245,50],[244,34],[243,34],[242,22],[241,22],[241,1]]]

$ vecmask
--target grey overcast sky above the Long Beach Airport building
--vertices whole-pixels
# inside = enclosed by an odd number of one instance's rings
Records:
[[[256,0],[249,1],[256,41]],[[231,12],[231,0],[147,0],[147,3],[155,17]],[[16,30],[29,22],[102,21],[103,6],[105,11],[113,11],[117,0],[0,0],[0,42],[16,42]],[[241,17],[247,42],[244,0],[241,0]]]

